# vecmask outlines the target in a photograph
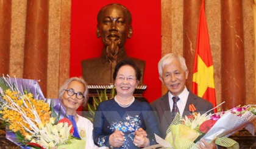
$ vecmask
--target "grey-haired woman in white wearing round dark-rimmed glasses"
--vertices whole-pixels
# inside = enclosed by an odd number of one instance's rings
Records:
[[[86,139],[85,149],[98,148],[93,142],[93,124],[76,113],[77,108],[87,102],[87,85],[82,78],[69,78],[59,89],[59,99],[65,106],[66,114],[73,115],[81,139]]]

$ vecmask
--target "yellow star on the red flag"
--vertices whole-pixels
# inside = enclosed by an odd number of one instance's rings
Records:
[[[213,65],[207,67],[198,55],[197,72],[193,74],[193,82],[197,83],[199,97],[204,95],[207,88],[215,88],[213,74]]]

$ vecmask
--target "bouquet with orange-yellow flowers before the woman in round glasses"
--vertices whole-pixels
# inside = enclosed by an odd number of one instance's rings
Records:
[[[21,148],[85,148],[85,140],[73,137],[74,123],[63,118],[62,106],[54,109],[60,105],[56,101],[44,100],[35,80],[0,77],[0,117],[7,139]]]

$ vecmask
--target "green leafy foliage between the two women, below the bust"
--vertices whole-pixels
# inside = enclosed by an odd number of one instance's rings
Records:
[[[104,91],[101,91],[101,93],[99,93],[99,91],[97,90],[97,94],[98,94],[98,97],[93,96],[93,103],[92,104],[90,104],[90,103],[87,104],[87,108],[88,108],[89,113],[87,114],[86,117],[91,122],[93,122],[93,117],[94,117],[96,109],[99,106],[99,103],[104,102],[108,99],[113,99],[116,95],[116,92],[115,92],[115,88],[113,87],[111,89],[111,92],[110,92],[110,97],[107,96],[107,89],[104,89]]]

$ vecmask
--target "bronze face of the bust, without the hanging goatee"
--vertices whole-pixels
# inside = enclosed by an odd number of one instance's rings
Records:
[[[123,47],[126,38],[132,36],[132,27],[129,24],[126,10],[120,5],[106,7],[101,16],[101,22],[98,24],[97,36],[101,36],[104,46],[113,43],[119,49]]]

